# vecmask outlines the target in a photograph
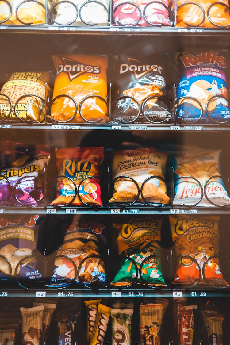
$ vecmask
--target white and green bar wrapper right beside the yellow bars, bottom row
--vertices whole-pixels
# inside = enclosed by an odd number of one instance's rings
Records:
[[[133,309],[111,309],[112,345],[130,345]]]

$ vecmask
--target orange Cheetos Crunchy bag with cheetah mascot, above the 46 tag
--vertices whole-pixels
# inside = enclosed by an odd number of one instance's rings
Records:
[[[199,283],[205,283],[204,270],[205,277],[210,284],[228,285],[221,273],[218,258],[219,217],[181,215],[169,216],[169,220],[172,240],[175,242],[175,254],[178,257],[173,284],[196,283],[199,279],[200,267]],[[181,257],[182,255],[189,255],[191,258]],[[204,266],[204,262],[213,255],[214,257],[210,258]]]

